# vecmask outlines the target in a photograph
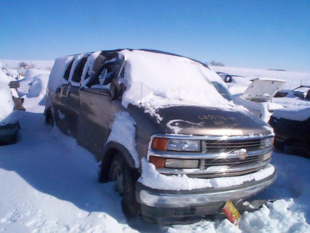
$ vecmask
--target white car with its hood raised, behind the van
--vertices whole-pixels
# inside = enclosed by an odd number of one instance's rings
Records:
[[[279,79],[256,78],[244,92],[233,95],[234,102],[268,122],[274,110],[283,108],[283,105],[273,102],[272,98],[284,83],[285,81]],[[236,89],[235,86],[229,89],[232,88]]]

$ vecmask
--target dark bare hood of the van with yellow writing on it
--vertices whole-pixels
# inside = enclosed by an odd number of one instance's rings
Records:
[[[273,133],[250,113],[200,106],[171,106],[156,112],[165,133],[193,135],[259,135]]]

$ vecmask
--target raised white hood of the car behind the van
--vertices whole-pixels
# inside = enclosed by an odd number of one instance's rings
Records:
[[[285,81],[279,79],[254,79],[242,94],[245,100],[271,101]]]

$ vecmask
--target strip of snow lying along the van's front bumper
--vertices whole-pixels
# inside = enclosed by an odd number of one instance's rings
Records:
[[[186,175],[166,176],[156,171],[155,166],[147,161],[141,160],[142,173],[138,182],[145,186],[160,190],[192,190],[210,187],[229,187],[239,185],[247,181],[259,181],[272,175],[275,171],[274,166],[268,165],[255,173],[235,177],[220,177],[211,179],[189,178]]]

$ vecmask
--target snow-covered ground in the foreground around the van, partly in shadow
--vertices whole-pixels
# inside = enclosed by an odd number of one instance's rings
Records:
[[[98,182],[93,155],[45,125],[44,90],[26,95],[33,76],[20,82],[27,110],[19,141],[0,148],[0,232],[310,232],[310,159],[279,152],[276,182],[255,197],[277,201],[244,213],[239,226],[222,218],[173,226],[126,220],[114,183]]]

